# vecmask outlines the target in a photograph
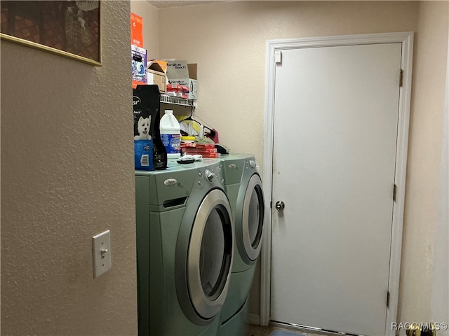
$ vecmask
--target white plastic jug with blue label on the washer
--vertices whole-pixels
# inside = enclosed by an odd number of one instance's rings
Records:
[[[173,116],[173,110],[166,110],[160,124],[161,140],[167,150],[168,159],[177,159],[181,156],[181,127]]]

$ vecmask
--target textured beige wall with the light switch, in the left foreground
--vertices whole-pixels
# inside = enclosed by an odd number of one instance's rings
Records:
[[[130,2],[101,10],[101,67],[1,41],[2,335],[137,335]]]

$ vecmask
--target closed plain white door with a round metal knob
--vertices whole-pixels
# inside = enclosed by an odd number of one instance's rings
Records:
[[[271,319],[384,335],[401,43],[276,64]],[[285,209],[277,211],[276,201]]]

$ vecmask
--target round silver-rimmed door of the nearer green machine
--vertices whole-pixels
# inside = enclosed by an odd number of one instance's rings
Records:
[[[225,302],[232,269],[233,226],[227,196],[213,189],[196,212],[187,249],[182,246],[182,237],[178,239],[178,301],[185,315],[198,325],[208,324]]]

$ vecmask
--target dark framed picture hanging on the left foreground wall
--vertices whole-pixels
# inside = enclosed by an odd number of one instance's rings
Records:
[[[101,66],[100,1],[0,1],[1,39]]]

